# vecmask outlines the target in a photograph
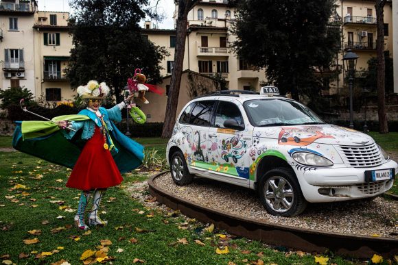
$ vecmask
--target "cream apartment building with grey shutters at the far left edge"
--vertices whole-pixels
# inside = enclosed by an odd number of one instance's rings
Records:
[[[22,86],[35,94],[34,14],[35,0],[2,0],[0,3],[0,88]]]

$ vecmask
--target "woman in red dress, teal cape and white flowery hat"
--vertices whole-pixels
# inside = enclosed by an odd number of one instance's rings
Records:
[[[23,122],[14,132],[13,145],[19,151],[73,168],[66,186],[82,190],[78,213],[74,220],[79,229],[87,230],[89,226],[85,223],[84,214],[89,199],[93,197],[89,225],[106,225],[107,222],[98,215],[102,197],[107,188],[121,183],[123,180],[121,173],[137,168],[141,164],[143,147],[121,134],[113,124],[113,121],[121,121],[121,110],[126,108],[132,95],[113,108],[105,109],[100,107],[102,100],[109,92],[105,83],[98,84],[97,81],[89,81],[86,86],[80,86],[77,91],[87,104],[87,108],[79,112],[79,115],[85,119],[80,118],[78,121],[67,121],[66,119],[59,121],[58,119],[58,127],[64,129],[62,130],[64,137],[60,137],[60,131],[57,131],[49,136],[23,140],[23,137],[26,138],[28,135],[23,134],[24,131],[27,131],[27,129],[24,130],[24,123],[28,122]],[[28,125],[25,125],[25,128],[27,127]],[[65,144],[65,139],[69,144]],[[60,142],[59,145],[58,142],[56,143],[57,147],[60,147],[61,151],[63,146],[67,145],[63,148],[64,153],[60,159],[56,159],[54,155],[48,153],[49,149],[46,144],[46,142],[54,143],[57,140]],[[83,148],[78,143],[79,140],[86,141]],[[76,154],[76,148],[81,150],[78,157],[73,155],[73,153]],[[45,151],[40,153],[38,150]],[[58,151],[60,150],[58,149]]]

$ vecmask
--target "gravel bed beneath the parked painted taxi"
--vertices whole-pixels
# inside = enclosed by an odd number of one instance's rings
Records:
[[[254,190],[212,179],[195,177],[191,184],[177,186],[166,173],[154,179],[154,186],[198,205],[264,223],[398,239],[398,203],[382,197],[373,201],[309,203],[300,216],[285,218],[268,214]]]

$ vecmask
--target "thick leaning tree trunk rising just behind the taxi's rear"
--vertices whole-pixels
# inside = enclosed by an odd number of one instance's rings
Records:
[[[183,72],[185,40],[187,38],[188,12],[199,0],[180,0],[178,1],[178,16],[176,23],[176,50],[174,53],[174,65],[172,80],[170,82],[169,94],[167,97],[165,122],[163,123],[162,138],[170,138],[174,123],[176,122],[176,112],[178,96],[180,95],[181,74]]]

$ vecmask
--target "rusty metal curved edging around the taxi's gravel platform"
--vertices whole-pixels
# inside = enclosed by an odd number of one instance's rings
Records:
[[[369,258],[373,254],[393,257],[398,253],[398,240],[393,238],[356,236],[285,227],[196,205],[154,186],[154,179],[168,172],[160,172],[148,179],[150,194],[156,197],[159,203],[163,203],[174,210],[180,210],[181,213],[191,218],[196,218],[205,223],[213,223],[218,229],[226,230],[233,235],[309,253],[325,253],[329,250],[338,255],[358,258]]]

